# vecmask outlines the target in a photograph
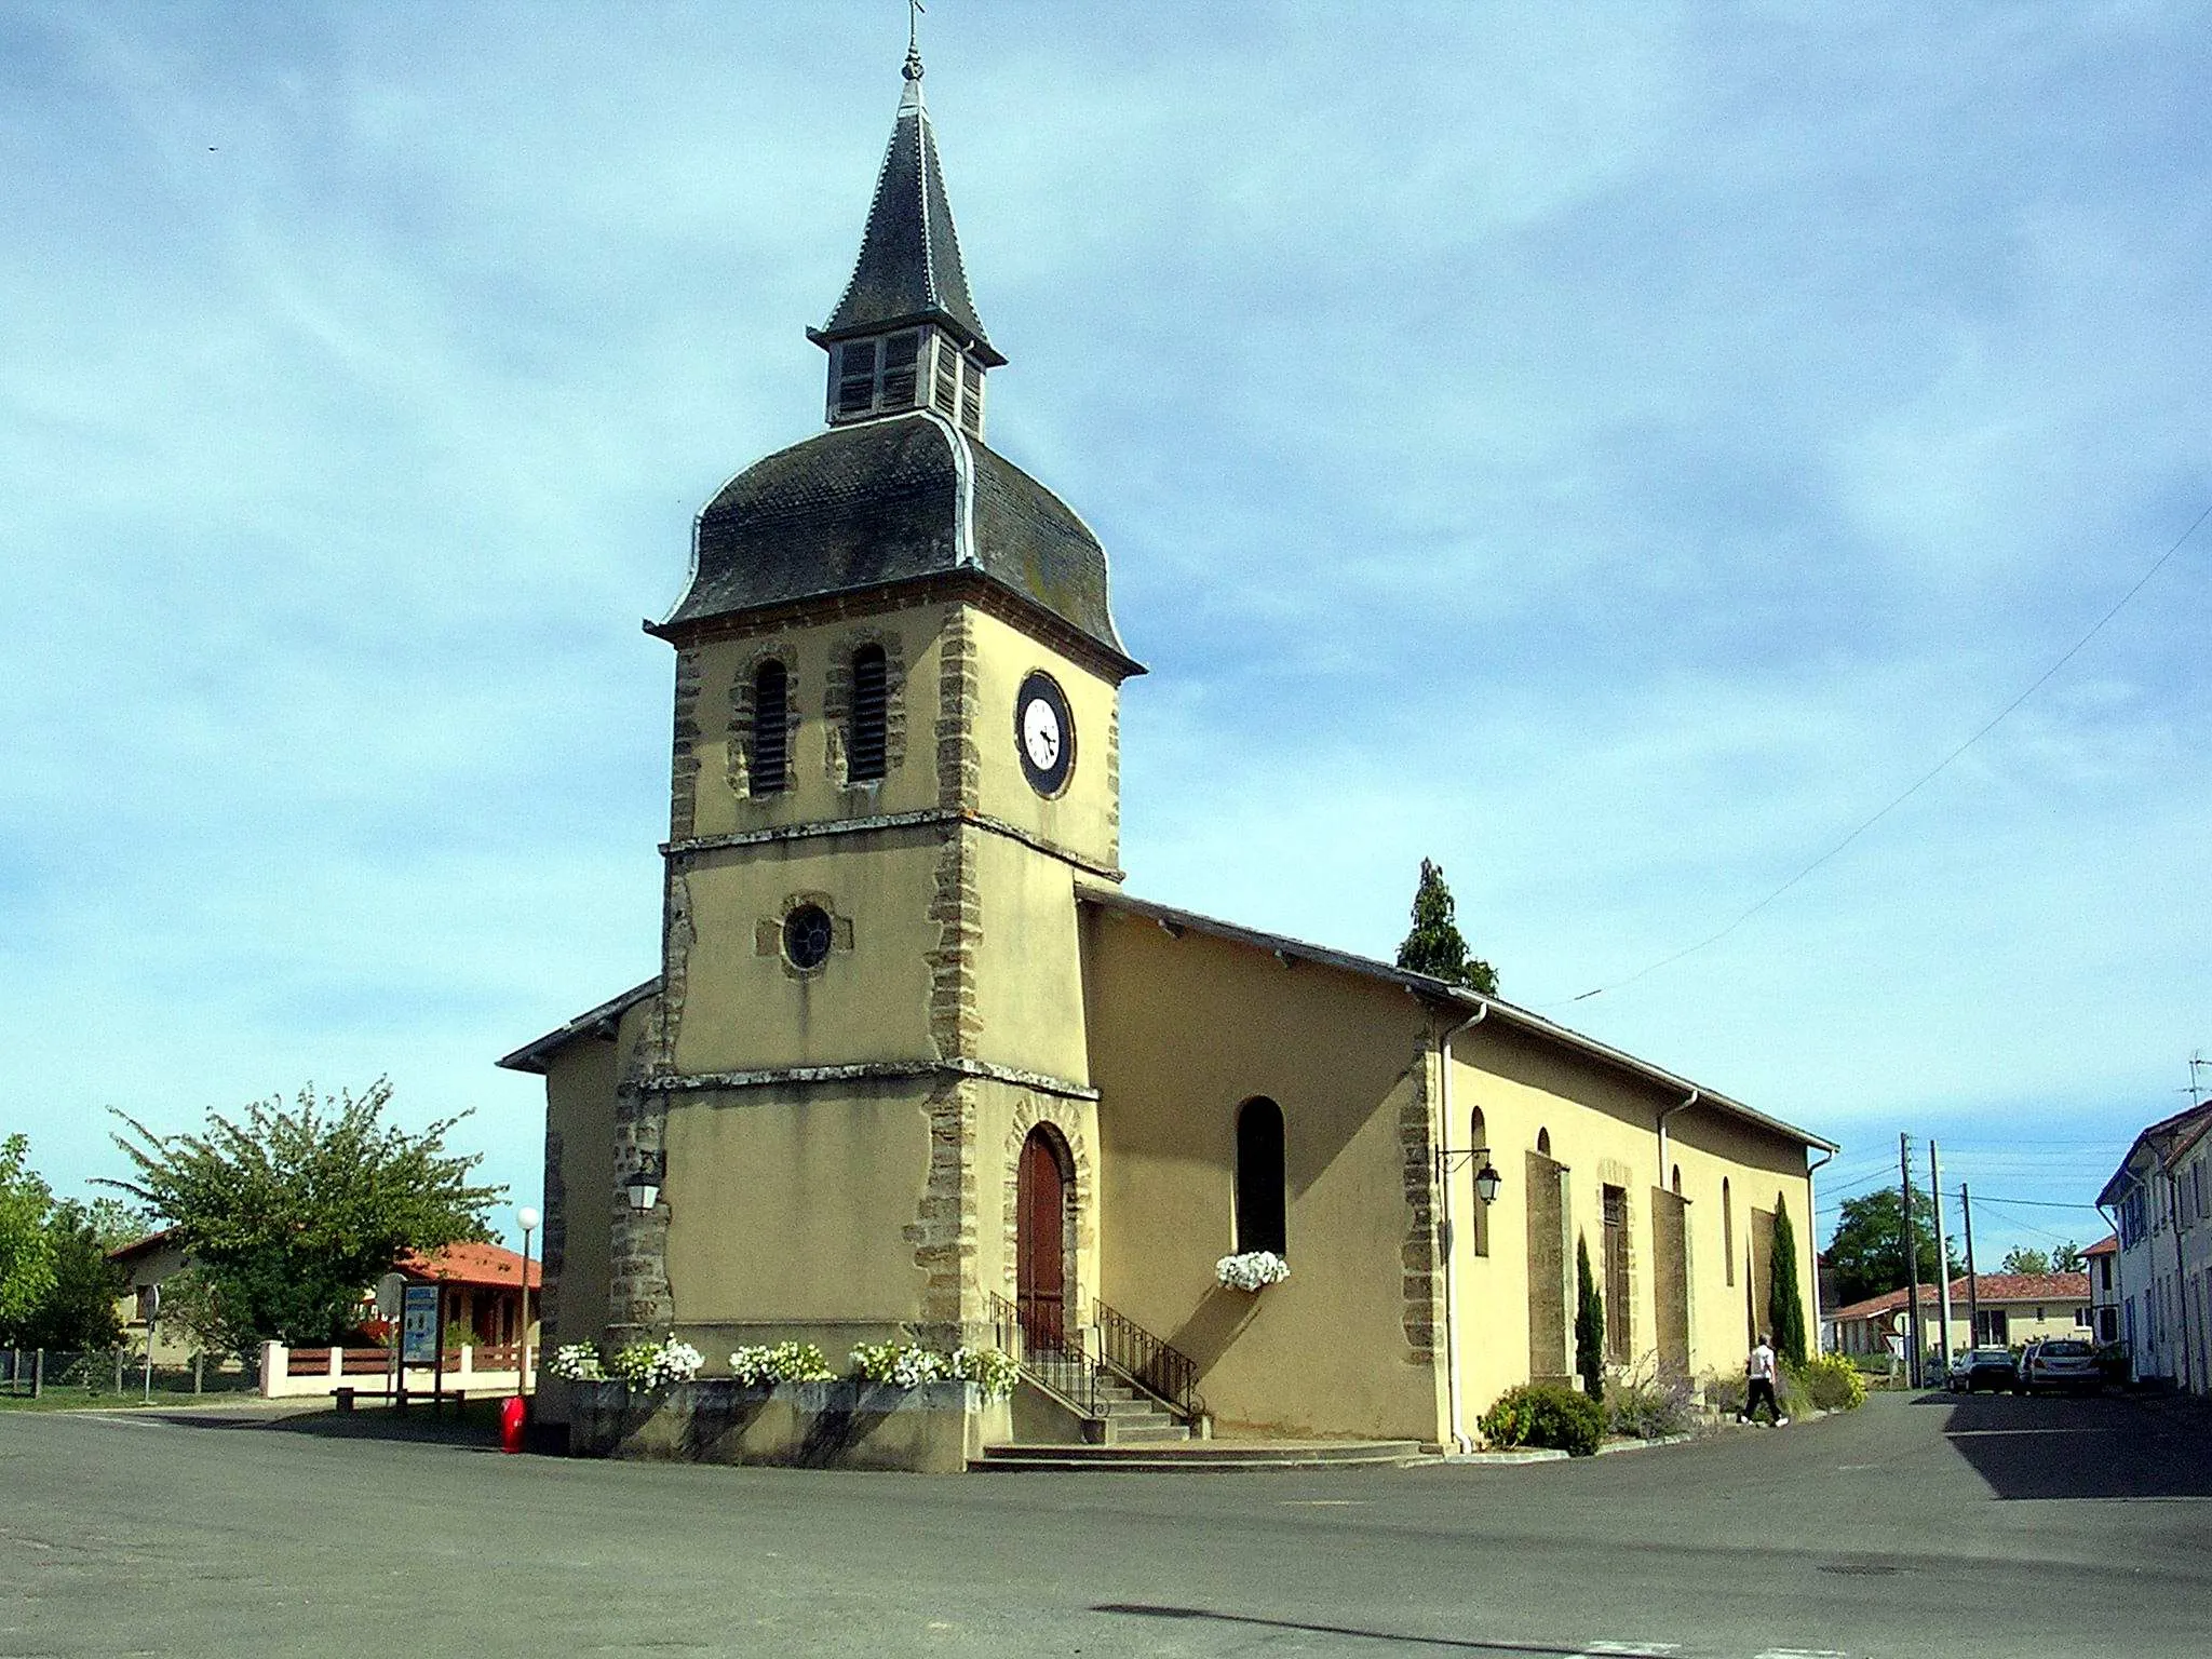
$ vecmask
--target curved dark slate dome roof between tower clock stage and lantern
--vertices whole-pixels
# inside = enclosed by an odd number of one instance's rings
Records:
[[[929,409],[818,431],[699,515],[692,577],[655,633],[796,599],[975,571],[1128,672],[1106,549],[1053,491]]]

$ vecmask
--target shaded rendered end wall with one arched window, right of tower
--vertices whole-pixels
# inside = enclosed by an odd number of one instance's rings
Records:
[[[1084,927],[1104,1301],[1199,1363],[1223,1433],[1438,1440],[1400,1141],[1422,1110],[1420,1004],[1117,911]],[[1283,1108],[1292,1276],[1245,1294],[1214,1261],[1234,1245],[1237,1108],[1254,1095]]]

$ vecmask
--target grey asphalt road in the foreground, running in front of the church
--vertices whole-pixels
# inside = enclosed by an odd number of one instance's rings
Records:
[[[1876,1398],[1582,1462],[843,1475],[0,1411],[0,1655],[2205,1655],[2212,1416]]]

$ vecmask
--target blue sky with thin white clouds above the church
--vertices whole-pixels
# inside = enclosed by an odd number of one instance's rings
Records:
[[[940,0],[991,436],[1152,668],[1133,891],[1389,956],[1433,856],[1509,998],[1827,1194],[1907,1128],[2086,1203],[2212,1048],[2212,526],[1621,982],[2212,504],[2208,22]],[[58,1186],[106,1106],[389,1073],[535,1188],[491,1060],[655,969],[637,622],[818,425],[902,49],[0,4],[0,1130]]]

